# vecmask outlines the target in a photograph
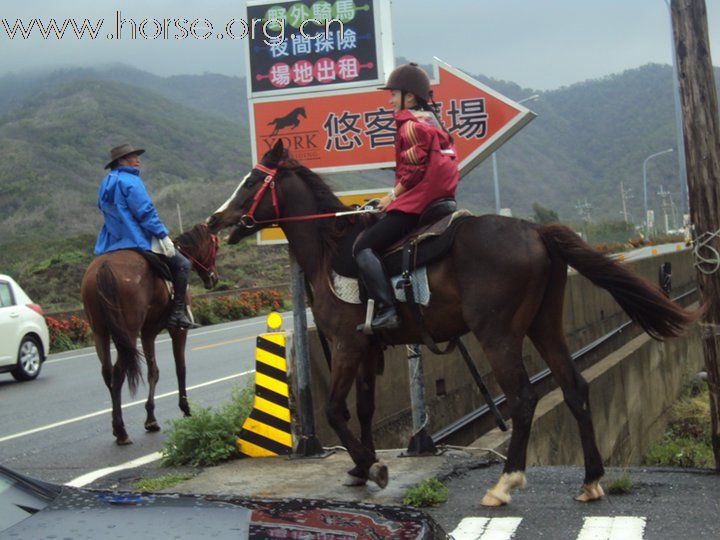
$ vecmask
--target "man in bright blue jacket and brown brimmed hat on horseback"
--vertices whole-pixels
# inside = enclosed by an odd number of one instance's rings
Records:
[[[98,207],[105,223],[98,234],[94,252],[101,255],[119,249],[141,249],[163,255],[172,272],[174,288],[167,325],[189,328],[193,324],[185,315],[185,295],[190,262],[175,249],[140,178],[140,155],[144,152],[129,144],[110,151],[110,161],[105,165],[110,172],[98,191]]]

